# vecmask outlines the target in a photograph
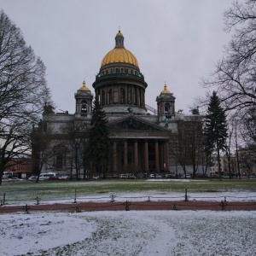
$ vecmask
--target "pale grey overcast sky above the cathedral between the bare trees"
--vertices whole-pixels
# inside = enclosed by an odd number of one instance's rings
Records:
[[[92,83],[119,30],[137,57],[148,88],[146,104],[166,82],[176,110],[189,113],[199,82],[214,71],[231,35],[224,10],[232,0],[0,0],[0,9],[23,32],[47,68],[55,111],[75,111],[74,93]]]

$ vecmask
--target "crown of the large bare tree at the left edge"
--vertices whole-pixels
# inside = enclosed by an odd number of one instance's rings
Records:
[[[45,67],[20,29],[0,11],[0,183],[7,160],[31,150],[32,125],[51,102]],[[8,156],[8,157],[7,157]]]

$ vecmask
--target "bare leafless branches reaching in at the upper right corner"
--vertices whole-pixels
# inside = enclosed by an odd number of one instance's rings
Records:
[[[256,0],[234,2],[224,19],[233,37],[215,73],[203,84],[218,91],[225,109],[251,108],[256,103]]]

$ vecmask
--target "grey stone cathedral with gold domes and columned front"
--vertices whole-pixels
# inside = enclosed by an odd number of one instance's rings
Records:
[[[115,47],[103,57],[100,71],[92,84],[94,94],[85,82],[74,95],[74,113],[54,113],[45,108],[43,130],[55,135],[55,155],[42,172],[66,173],[74,170],[74,149],[65,136],[65,127],[90,125],[92,102],[96,97],[107,114],[111,139],[108,173],[177,172],[172,155],[177,122],[184,119],[175,109],[175,97],[166,84],[156,96],[156,108],[146,104],[147,82],[137,58],[125,49],[119,31]],[[83,166],[79,167],[83,172]]]

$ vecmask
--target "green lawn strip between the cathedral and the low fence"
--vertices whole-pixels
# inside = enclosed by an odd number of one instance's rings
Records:
[[[256,192],[256,179],[222,179],[222,180],[98,180],[98,181],[58,181],[58,182],[20,182],[3,183],[0,186],[0,200],[8,201],[36,201],[39,197],[42,201],[93,196],[99,194],[119,195],[123,193],[154,193],[166,194],[172,192],[183,193],[216,193],[216,192]]]

